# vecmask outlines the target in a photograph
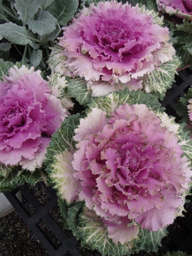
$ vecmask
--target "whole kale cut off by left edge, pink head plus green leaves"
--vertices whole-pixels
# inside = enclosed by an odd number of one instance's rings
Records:
[[[1,69],[0,191],[43,180],[51,135],[73,107],[64,93],[65,77],[53,73],[47,81],[34,67],[17,65],[4,62]]]

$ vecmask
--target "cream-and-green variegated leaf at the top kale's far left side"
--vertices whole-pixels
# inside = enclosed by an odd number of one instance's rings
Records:
[[[56,45],[54,47],[50,47],[51,54],[49,59],[47,60],[48,68],[51,71],[59,72],[61,74],[65,73],[65,67],[63,62],[66,60],[66,56],[64,55],[64,51],[62,47]]]

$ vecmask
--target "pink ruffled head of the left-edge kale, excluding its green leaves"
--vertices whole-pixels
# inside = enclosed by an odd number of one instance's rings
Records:
[[[0,82],[0,162],[41,167],[52,133],[66,117],[41,71],[14,66]],[[44,136],[42,136],[44,135]]]

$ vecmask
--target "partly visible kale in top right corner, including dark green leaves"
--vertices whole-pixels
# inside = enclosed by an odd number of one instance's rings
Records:
[[[173,32],[173,44],[181,57],[181,67],[192,64],[192,1],[156,0],[159,11],[166,14],[166,20]]]

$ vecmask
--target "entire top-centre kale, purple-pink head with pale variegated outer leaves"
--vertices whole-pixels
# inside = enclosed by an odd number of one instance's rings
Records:
[[[71,77],[68,93],[80,103],[87,92],[100,97],[125,88],[163,98],[180,65],[163,17],[128,2],[83,6],[58,39],[49,68]]]

